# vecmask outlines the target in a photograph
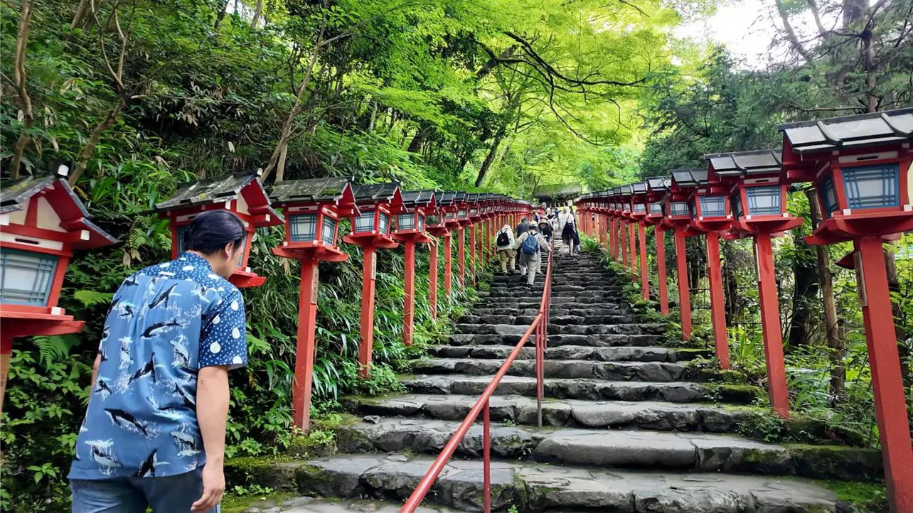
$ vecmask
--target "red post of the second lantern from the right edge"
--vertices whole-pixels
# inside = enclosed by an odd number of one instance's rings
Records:
[[[783,340],[780,327],[780,302],[773,271],[773,248],[770,234],[754,236],[758,258],[758,293],[761,299],[761,330],[764,335],[764,359],[773,411],[783,418],[790,416],[789,395],[786,389],[786,369],[783,367]]]

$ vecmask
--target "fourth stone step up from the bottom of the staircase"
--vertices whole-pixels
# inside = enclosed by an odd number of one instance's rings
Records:
[[[404,379],[411,393],[459,393],[478,395],[485,390],[491,376],[448,374],[417,375]],[[583,399],[588,401],[664,401],[699,403],[710,400],[713,387],[696,382],[607,382],[583,378],[550,378],[542,383],[549,399]],[[496,392],[501,395],[536,396],[536,379],[526,376],[504,376]],[[746,398],[747,399],[747,398]],[[750,400],[750,399],[749,399]]]

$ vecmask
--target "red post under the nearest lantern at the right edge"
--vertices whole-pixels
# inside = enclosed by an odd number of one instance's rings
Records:
[[[854,246],[859,251],[856,279],[860,282],[888,506],[891,511],[909,513],[913,511],[913,445],[881,237],[862,238]]]

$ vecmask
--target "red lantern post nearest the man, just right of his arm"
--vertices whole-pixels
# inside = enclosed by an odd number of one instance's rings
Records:
[[[317,347],[314,330],[317,328],[318,265],[313,259],[301,260],[301,297],[298,303],[298,341],[295,344],[295,381],[292,382],[292,425],[310,431],[310,388],[313,383],[314,356]]]

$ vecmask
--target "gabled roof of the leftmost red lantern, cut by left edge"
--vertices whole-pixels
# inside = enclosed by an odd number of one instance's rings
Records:
[[[58,216],[58,225],[68,232],[84,231],[89,233],[89,238],[79,237],[74,239],[72,247],[75,249],[89,249],[92,247],[109,246],[117,242],[98,225],[89,221],[91,215],[79,196],[73,192],[66,180],[69,170],[60,166],[55,174],[45,176],[27,176],[12,183],[7,183],[0,188],[0,215],[20,212],[27,208],[29,200],[43,191],[47,204]]]

